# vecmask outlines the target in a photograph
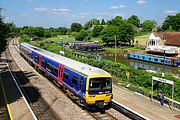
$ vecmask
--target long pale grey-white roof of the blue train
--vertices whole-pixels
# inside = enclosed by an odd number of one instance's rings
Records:
[[[24,47],[28,47],[29,49],[33,49],[35,51],[37,51],[38,53],[58,62],[61,63],[69,68],[71,68],[72,70],[78,71],[82,74],[85,74],[87,76],[89,75],[108,75],[110,76],[110,74],[100,68],[97,67],[93,67],[90,66],[88,64],[85,63],[81,63],[79,61],[40,49],[38,47],[35,47],[33,45],[27,44],[27,43],[21,43],[21,45],[23,45]]]

